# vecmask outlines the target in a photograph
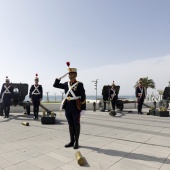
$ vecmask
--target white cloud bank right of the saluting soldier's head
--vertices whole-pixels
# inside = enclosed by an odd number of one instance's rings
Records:
[[[120,85],[120,95],[134,95],[133,88],[136,81],[140,77],[148,77],[153,79],[156,84],[156,89],[148,89],[149,93],[157,93],[158,89],[164,90],[170,81],[170,55],[152,58],[141,59],[125,64],[112,64],[103,67],[92,68],[79,72],[78,79],[81,79],[86,88],[86,93],[95,94],[94,83],[92,80],[98,81],[98,95],[101,95],[103,85],[115,84]]]

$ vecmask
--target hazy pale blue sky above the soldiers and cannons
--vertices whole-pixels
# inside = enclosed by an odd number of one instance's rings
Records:
[[[88,95],[95,94],[91,80],[99,77],[99,91],[112,80],[119,84],[121,77],[122,86],[128,81],[130,88],[122,95],[131,95],[142,76],[140,63],[170,62],[169,8],[169,0],[0,0],[0,82],[8,75],[12,82],[31,85],[38,73],[44,91],[59,92],[54,79],[70,61]],[[125,77],[125,65],[128,75],[139,74]],[[96,74],[89,72],[94,69]],[[157,79],[156,71],[147,68],[144,76],[164,88],[170,76]]]

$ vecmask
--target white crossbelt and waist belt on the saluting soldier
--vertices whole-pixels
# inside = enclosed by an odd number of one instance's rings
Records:
[[[80,98],[80,96],[76,96],[76,95],[74,94],[73,90],[72,90],[72,88],[73,88],[74,86],[76,86],[77,84],[78,84],[78,81],[77,81],[75,84],[73,84],[72,86],[70,86],[70,82],[68,82],[68,88],[69,88],[69,89],[68,89],[66,95],[64,96],[64,99],[63,99],[62,102],[61,102],[60,111],[62,110],[64,101],[65,101],[66,99],[67,99],[67,100],[76,100],[76,99]],[[68,97],[69,92],[72,94],[73,97]]]

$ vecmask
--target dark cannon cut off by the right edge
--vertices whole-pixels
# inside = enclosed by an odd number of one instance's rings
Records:
[[[162,100],[159,102],[159,107],[169,107],[169,101],[170,101],[170,86],[165,87],[163,95],[162,95]]]

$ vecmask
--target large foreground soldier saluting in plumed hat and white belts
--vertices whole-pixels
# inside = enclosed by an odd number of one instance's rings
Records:
[[[69,67],[70,63],[66,63]],[[65,109],[65,116],[69,124],[70,142],[65,145],[66,148],[73,147],[78,149],[78,141],[80,135],[80,115],[86,110],[86,95],[82,82],[76,80],[77,69],[68,68],[68,73],[56,79],[53,87],[65,90],[65,97],[62,101],[60,110]],[[60,83],[60,80],[69,74],[70,81]]]

